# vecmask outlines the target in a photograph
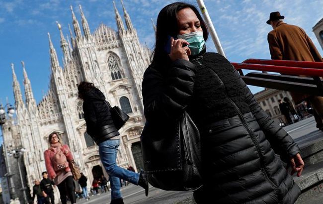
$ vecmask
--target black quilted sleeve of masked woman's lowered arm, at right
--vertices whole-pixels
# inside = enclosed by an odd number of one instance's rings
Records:
[[[259,106],[258,102],[253,97],[249,88],[242,80],[239,73],[234,69],[233,74],[239,78],[239,83],[243,87],[245,102],[248,104],[252,114],[259,123],[260,128],[265,133],[267,140],[271,144],[271,148],[276,154],[281,156],[284,162],[300,152],[298,145],[292,137],[277,123],[275,123],[269,115]]]

